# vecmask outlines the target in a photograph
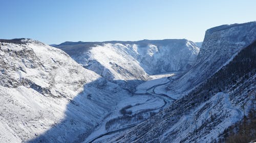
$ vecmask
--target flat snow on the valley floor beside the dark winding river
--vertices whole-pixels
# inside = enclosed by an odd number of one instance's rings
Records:
[[[167,107],[168,104],[170,104],[173,100],[169,101],[170,99],[166,99],[165,97],[161,97],[157,94],[154,94],[152,90],[152,87],[158,86],[158,84],[165,84],[169,81],[168,77],[169,76],[175,76],[179,72],[171,72],[171,73],[163,73],[159,75],[152,75],[150,78],[151,80],[147,80],[137,86],[137,90],[135,94],[131,97],[126,97],[122,99],[117,105],[116,109],[106,117],[102,123],[102,125],[95,129],[95,131],[90,134],[90,136],[84,140],[84,142],[89,142],[95,139],[94,141],[105,141],[108,140],[109,138],[113,137],[116,135],[116,133],[111,133],[108,135],[104,135],[100,138],[97,138],[99,135],[103,135],[106,133],[110,133],[116,130],[120,130],[122,128],[126,128],[129,126],[136,125],[140,122],[134,121],[131,123],[122,123],[122,125],[119,125],[118,123],[113,124],[112,128],[110,130],[106,130],[105,124],[106,122],[110,121],[111,119],[117,119],[118,117],[122,117],[122,114],[120,113],[120,109],[129,106],[127,108],[127,111],[132,111],[131,115],[136,115],[138,113],[141,113],[145,110],[152,110],[154,112],[159,112],[160,109]],[[154,79],[153,79],[154,78]],[[164,82],[163,82],[164,81]],[[140,92],[140,91],[144,92]],[[142,114],[143,115],[143,114]],[[143,120],[144,121],[144,120]],[[121,131],[120,131],[121,132]],[[119,133],[120,133],[119,132]],[[96,139],[97,138],[97,139]]]

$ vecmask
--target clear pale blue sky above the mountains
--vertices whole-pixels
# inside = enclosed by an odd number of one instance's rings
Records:
[[[256,20],[255,0],[0,0],[0,39],[203,41],[210,27]]]

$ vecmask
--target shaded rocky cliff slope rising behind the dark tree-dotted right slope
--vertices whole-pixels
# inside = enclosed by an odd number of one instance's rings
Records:
[[[205,33],[202,48],[193,68],[171,84],[169,89],[182,93],[194,88],[254,40],[256,40],[256,22],[210,28]]]

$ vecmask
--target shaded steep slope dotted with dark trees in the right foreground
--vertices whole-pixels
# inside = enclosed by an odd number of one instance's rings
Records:
[[[255,81],[253,42],[188,95],[110,142],[216,142],[256,109]]]

